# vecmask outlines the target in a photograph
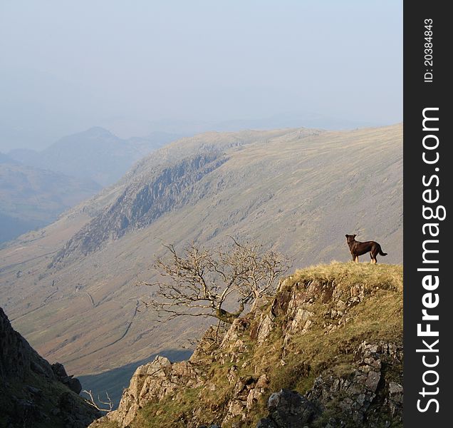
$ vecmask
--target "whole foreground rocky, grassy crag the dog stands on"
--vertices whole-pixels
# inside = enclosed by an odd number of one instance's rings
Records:
[[[137,368],[90,427],[402,427],[402,393],[402,267],[333,263],[209,328],[189,360]]]

